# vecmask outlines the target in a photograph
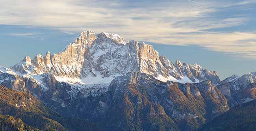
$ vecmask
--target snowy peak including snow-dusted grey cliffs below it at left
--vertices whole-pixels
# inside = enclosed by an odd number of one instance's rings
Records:
[[[215,85],[220,83],[216,71],[178,60],[172,63],[158,54],[152,45],[125,41],[116,34],[102,32],[96,35],[93,31],[84,31],[60,53],[51,55],[47,52],[45,56],[37,55],[33,59],[26,56],[9,68],[0,66],[0,84],[16,91],[30,91],[48,101],[54,97],[55,81],[67,85],[63,94],[69,95],[70,99],[78,94],[99,96],[108,90],[111,80],[130,71],[147,73],[165,82],[211,80]],[[67,104],[64,101],[59,103]]]

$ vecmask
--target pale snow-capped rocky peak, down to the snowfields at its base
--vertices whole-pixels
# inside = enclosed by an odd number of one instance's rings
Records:
[[[215,71],[203,69],[198,64],[176,61],[174,64],[165,56],[159,56],[152,45],[137,41],[126,42],[113,33],[82,32],[63,51],[45,56],[37,55],[32,60],[25,57],[10,69],[21,75],[43,83],[44,74],[52,74],[57,81],[69,84],[110,84],[117,76],[137,71],[154,76],[161,81],[196,83],[211,80],[220,82]],[[3,71],[2,71],[3,72]],[[6,71],[5,71],[6,72]],[[52,78],[52,77],[47,77]]]

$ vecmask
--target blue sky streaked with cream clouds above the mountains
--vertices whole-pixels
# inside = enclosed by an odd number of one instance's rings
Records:
[[[82,31],[138,40],[224,79],[256,71],[256,0],[1,0],[0,65],[57,53]]]

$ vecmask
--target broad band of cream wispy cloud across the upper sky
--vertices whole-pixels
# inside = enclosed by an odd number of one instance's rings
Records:
[[[68,34],[84,30],[108,31],[127,39],[171,45],[196,44],[213,51],[256,59],[256,33],[211,31],[247,23],[250,18],[244,14],[227,17],[215,17],[213,14],[218,13],[220,8],[248,5],[255,3],[255,0],[187,1],[197,4],[180,0],[2,0],[0,24],[50,27]]]

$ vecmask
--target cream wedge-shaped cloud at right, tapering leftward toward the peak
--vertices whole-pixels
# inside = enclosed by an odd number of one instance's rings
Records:
[[[171,45],[199,45],[217,52],[256,59],[256,33],[176,34],[148,41]]]

